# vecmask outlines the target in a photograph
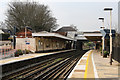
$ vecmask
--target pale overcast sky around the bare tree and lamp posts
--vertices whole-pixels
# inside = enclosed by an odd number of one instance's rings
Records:
[[[102,22],[99,17],[105,17],[105,27],[109,28],[109,12],[104,7],[112,7],[112,27],[118,26],[118,0],[0,0],[0,21],[4,21],[11,1],[37,1],[48,5],[59,27],[77,26],[79,31],[100,30]]]

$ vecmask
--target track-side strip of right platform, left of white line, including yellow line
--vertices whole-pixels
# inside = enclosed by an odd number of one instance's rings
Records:
[[[94,72],[93,72],[93,68],[92,68],[93,66],[91,66],[92,65],[91,60],[92,60],[91,59],[91,51],[88,51],[78,61],[74,70],[69,75],[68,80],[81,80],[81,79],[84,80],[85,75],[87,75],[88,78],[93,78],[94,77]],[[89,66],[87,64],[89,64]]]

